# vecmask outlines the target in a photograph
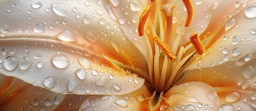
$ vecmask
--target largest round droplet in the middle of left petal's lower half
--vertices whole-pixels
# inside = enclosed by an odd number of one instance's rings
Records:
[[[51,62],[56,68],[67,68],[70,64],[69,58],[62,54],[53,56]]]

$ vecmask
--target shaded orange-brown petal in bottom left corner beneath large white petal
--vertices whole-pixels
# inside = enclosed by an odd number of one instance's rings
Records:
[[[26,84],[22,80],[16,80],[17,82],[12,84],[13,87],[22,83],[25,85],[16,90],[9,89],[10,92],[8,96],[1,100],[1,110],[55,110],[65,98],[64,94],[55,93],[47,89]]]

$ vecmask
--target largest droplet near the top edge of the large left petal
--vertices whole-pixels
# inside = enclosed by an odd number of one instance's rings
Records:
[[[60,15],[60,16],[67,16],[68,15],[68,12],[67,12],[67,8],[64,4],[62,3],[53,3],[51,4],[52,6],[52,10],[53,12],[55,12],[57,15]]]

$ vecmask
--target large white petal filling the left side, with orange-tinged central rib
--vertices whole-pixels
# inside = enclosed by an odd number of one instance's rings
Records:
[[[109,61],[146,66],[139,51],[115,29],[115,21],[101,7],[106,1],[89,4],[1,2],[7,14],[0,12],[0,73],[58,93],[125,94],[123,90],[130,93],[142,86],[143,79]],[[95,10],[98,5],[100,10]],[[101,19],[105,19],[104,26]]]

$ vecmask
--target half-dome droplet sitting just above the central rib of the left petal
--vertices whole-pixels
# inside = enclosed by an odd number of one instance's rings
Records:
[[[76,42],[76,36],[73,32],[69,30],[64,30],[55,35],[56,38],[63,40],[63,41],[69,41],[69,42]]]

